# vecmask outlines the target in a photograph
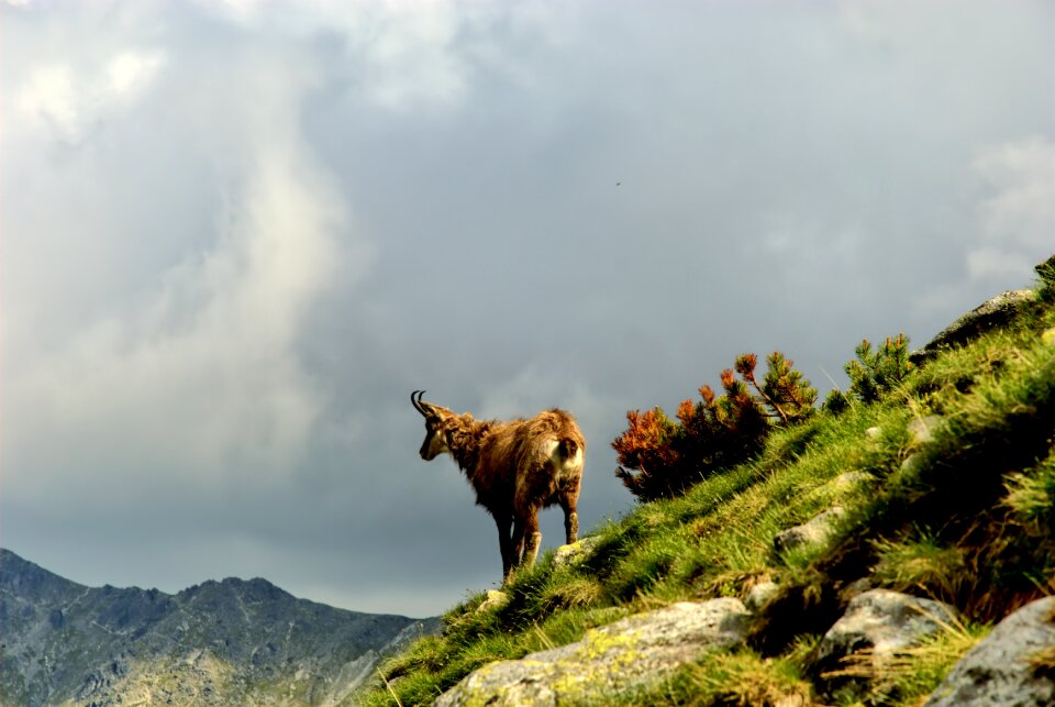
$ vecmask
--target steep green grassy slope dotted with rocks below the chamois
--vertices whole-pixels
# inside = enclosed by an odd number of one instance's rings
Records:
[[[387,663],[365,704],[429,704],[491,661],[673,601],[743,598],[764,581],[781,589],[748,647],[686,666],[644,700],[815,700],[813,648],[866,583],[949,601],[965,616],[871,675],[870,694],[834,697],[918,704],[993,621],[1055,593],[1055,287],[1042,292],[1012,325],[946,352],[897,395],[775,433],[757,460],[596,529],[599,545],[581,564],[554,567],[551,553],[507,587],[501,609],[476,612],[485,595],[469,598],[446,615],[443,636]],[[926,415],[945,424],[919,445],[907,426]],[[866,435],[873,427],[879,434]],[[875,482],[831,483],[847,471]],[[779,531],[833,504],[849,511],[834,538],[774,552]]]

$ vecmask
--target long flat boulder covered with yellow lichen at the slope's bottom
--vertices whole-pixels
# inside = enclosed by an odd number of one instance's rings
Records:
[[[748,619],[738,599],[682,601],[592,629],[569,645],[485,665],[433,704],[603,704],[607,695],[633,695],[707,651],[740,643]]]

